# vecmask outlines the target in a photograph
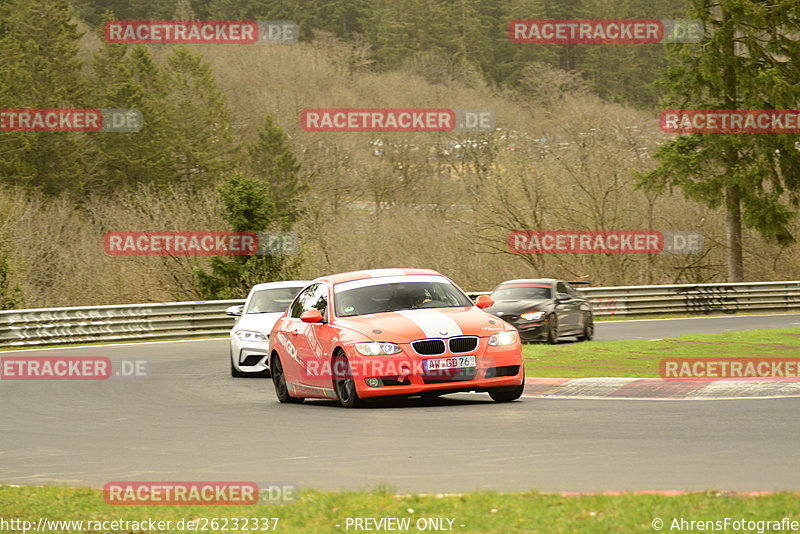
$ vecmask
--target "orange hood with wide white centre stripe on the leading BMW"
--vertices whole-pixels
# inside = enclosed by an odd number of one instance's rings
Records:
[[[502,321],[475,307],[423,308],[340,317],[336,324],[373,341],[409,343],[417,339],[490,336],[504,330]]]

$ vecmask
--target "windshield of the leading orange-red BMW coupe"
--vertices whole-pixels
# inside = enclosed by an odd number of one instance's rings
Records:
[[[371,283],[370,285],[353,284],[352,282],[337,284],[336,315],[351,317],[418,308],[453,308],[473,305],[466,295],[446,279],[430,278],[432,280]],[[364,281],[357,280],[356,282]],[[370,282],[366,281],[366,283]]]

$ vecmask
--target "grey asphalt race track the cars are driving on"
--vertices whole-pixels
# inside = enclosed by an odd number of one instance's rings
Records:
[[[598,339],[800,326],[800,315],[609,322]],[[16,355],[4,352],[0,355]],[[0,484],[248,480],[320,489],[798,490],[800,399],[488,395],[280,405],[229,376],[227,340],[42,349],[146,360],[147,376],[0,381]],[[116,366],[115,366],[116,368]]]

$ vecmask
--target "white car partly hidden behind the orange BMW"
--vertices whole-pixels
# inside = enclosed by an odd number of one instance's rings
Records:
[[[297,294],[311,282],[291,280],[257,284],[244,305],[225,313],[239,317],[231,329],[231,376],[269,377],[269,333]]]

